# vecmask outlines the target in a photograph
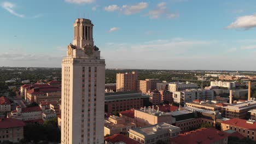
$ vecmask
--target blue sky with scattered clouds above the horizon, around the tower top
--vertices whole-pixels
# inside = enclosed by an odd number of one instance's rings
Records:
[[[256,1],[0,0],[0,66],[61,67],[77,18],[106,68],[256,70]]]

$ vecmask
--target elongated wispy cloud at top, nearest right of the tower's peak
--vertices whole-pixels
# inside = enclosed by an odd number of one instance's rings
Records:
[[[119,11],[125,15],[131,15],[141,12],[143,9],[146,9],[148,7],[148,3],[141,2],[135,5],[123,5],[122,7],[119,7],[116,4],[108,5],[104,8],[106,11]]]

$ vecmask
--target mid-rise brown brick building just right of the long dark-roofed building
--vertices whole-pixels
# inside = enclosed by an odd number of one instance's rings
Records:
[[[168,101],[168,103],[173,102],[172,92],[169,91],[155,90],[148,91],[143,94],[149,95],[149,101],[152,103],[152,105],[159,105],[161,103],[164,103],[164,101]]]

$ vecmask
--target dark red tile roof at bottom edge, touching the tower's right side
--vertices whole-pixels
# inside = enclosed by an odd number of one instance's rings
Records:
[[[117,142],[125,142],[126,144],[139,144],[138,141],[133,140],[127,136],[121,135],[121,134],[115,134],[112,136],[108,136],[104,138],[107,142],[117,143]]]

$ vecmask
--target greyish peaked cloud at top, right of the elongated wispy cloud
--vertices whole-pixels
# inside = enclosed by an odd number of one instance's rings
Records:
[[[158,19],[162,15],[165,15],[167,19],[174,19],[179,17],[178,13],[169,13],[168,9],[166,8],[166,3],[161,2],[157,5],[157,7],[153,10],[150,10],[146,16],[149,16],[150,19]]]

